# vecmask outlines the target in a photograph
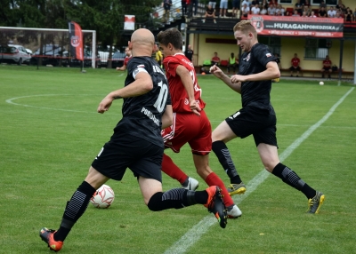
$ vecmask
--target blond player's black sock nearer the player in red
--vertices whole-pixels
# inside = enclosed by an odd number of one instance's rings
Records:
[[[219,159],[223,166],[223,170],[228,174],[231,184],[239,184],[242,180],[239,178],[239,173],[236,171],[235,165],[232,162],[231,154],[225,143],[221,140],[213,142],[214,154]]]

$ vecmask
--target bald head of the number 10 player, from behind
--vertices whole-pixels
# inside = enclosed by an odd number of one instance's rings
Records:
[[[149,29],[140,28],[134,31],[131,41],[128,42],[128,48],[133,56],[151,56],[155,46],[155,36]]]

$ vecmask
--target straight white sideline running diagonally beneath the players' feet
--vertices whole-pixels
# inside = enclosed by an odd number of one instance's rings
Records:
[[[336,109],[343,101],[344,99],[353,91],[354,88],[350,89],[347,91],[344,96],[339,99],[336,104],[330,108],[328,113],[324,115],[318,123],[313,124],[307,131],[305,131],[301,137],[298,139],[295,139],[295,141],[287,147],[287,149],[279,155],[279,160],[280,162],[283,162],[287,157],[292,154],[292,152],[299,147],[300,144],[302,144],[303,140],[307,139],[313,131],[318,129],[318,127],[324,123],[325,121],[328,120],[328,117],[332,115]],[[247,198],[247,196],[255,191],[255,189],[263,183],[265,179],[268,178],[270,173],[266,170],[263,169],[260,173],[258,173],[254,179],[250,180],[247,184],[247,192],[243,195],[235,195],[233,198],[233,201],[236,204],[239,204],[242,202],[244,199]],[[190,246],[192,246],[195,242],[198,242],[199,238],[206,233],[206,231],[209,229],[210,226],[212,226],[214,223],[216,223],[217,220],[214,218],[214,216],[206,216],[202,220],[198,222],[197,225],[192,226],[190,230],[186,234],[184,234],[181,239],[179,239],[177,242],[174,242],[174,244],[165,251],[165,254],[180,254],[184,253],[187,251]],[[225,229],[226,230],[226,229]]]

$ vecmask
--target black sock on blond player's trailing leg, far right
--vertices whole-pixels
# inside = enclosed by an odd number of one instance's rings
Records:
[[[316,194],[316,191],[300,179],[295,171],[292,171],[282,163],[278,163],[274,167],[272,174],[279,179],[282,179],[282,181],[284,181],[288,186],[294,187],[295,189],[303,192],[308,199],[312,198]]]

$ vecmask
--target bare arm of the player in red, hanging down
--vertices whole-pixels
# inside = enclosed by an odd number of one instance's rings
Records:
[[[175,72],[181,77],[182,84],[184,85],[185,91],[187,91],[191,111],[195,115],[200,115],[199,111],[201,111],[201,108],[194,97],[194,83],[191,79],[189,70],[180,65],[176,68]]]

